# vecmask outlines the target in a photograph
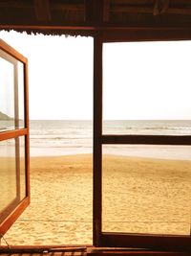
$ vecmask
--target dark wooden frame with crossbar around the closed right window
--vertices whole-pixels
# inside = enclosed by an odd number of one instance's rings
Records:
[[[184,29],[119,29],[102,31],[94,40],[94,245],[154,250],[191,250],[191,236],[102,232],[102,146],[106,144],[191,145],[191,136],[105,135],[102,133],[102,48],[107,42],[191,39]]]

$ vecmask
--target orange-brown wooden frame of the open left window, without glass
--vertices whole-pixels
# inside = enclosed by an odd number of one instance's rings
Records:
[[[6,53],[3,58],[11,62],[14,66],[14,82],[17,82],[17,61],[23,63],[24,68],[24,128],[18,128],[18,109],[17,98],[18,88],[14,90],[14,111],[15,111],[15,129],[5,130],[0,132],[0,141],[6,141],[9,139],[15,140],[15,165],[16,165],[16,198],[1,212],[0,218],[0,234],[4,235],[11,227],[12,223],[21,215],[21,213],[30,204],[30,155],[29,155],[29,88],[28,88],[28,59],[23,57],[17,51],[15,51],[6,42],[0,39],[0,50]],[[7,56],[8,55],[8,56]],[[15,61],[14,61],[15,59]],[[16,86],[17,87],[17,86]],[[26,197],[20,198],[20,167],[19,167],[19,138],[25,140],[25,181],[26,181]]]

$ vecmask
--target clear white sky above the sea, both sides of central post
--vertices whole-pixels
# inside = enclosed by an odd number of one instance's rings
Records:
[[[0,32],[29,58],[31,119],[93,118],[93,38]],[[104,45],[104,119],[190,119],[191,42]]]

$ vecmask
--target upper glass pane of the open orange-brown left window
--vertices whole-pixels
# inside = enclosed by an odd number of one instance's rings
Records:
[[[0,131],[24,127],[23,64],[0,50]]]

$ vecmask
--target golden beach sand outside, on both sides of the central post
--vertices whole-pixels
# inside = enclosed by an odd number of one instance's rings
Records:
[[[103,231],[188,235],[190,182],[188,160],[105,155]],[[9,244],[93,243],[91,154],[32,157],[31,187]]]

